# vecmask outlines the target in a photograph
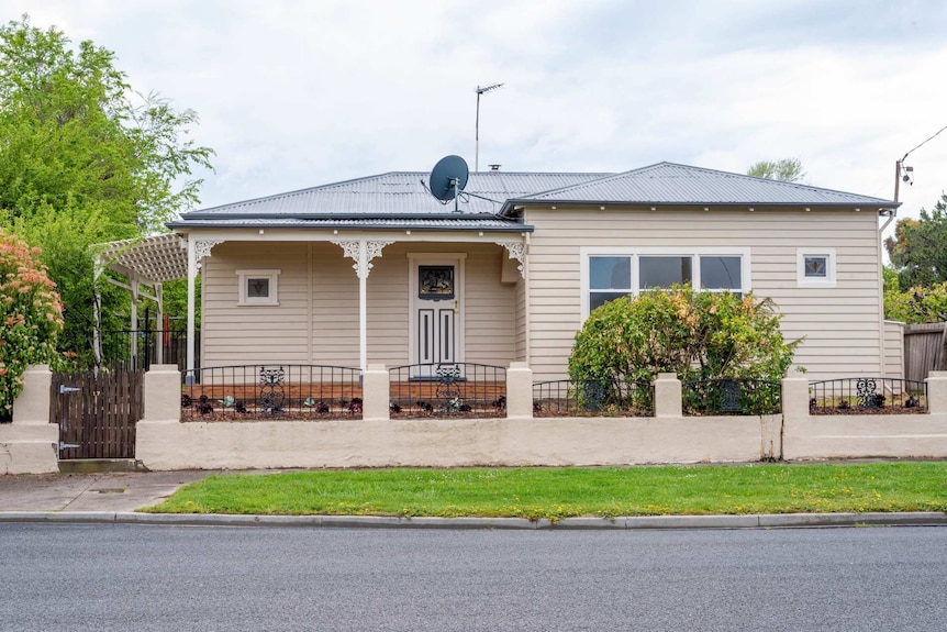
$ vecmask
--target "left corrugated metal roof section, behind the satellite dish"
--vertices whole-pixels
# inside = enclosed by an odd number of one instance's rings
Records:
[[[611,174],[519,174],[483,171],[470,174],[458,209],[464,214],[495,214],[511,198],[569,187]],[[428,174],[392,171],[355,180],[323,185],[256,200],[247,200],[185,213],[182,222],[212,217],[424,217],[454,211],[454,202],[442,204],[425,188]],[[481,199],[490,198],[490,199]],[[491,201],[493,200],[493,201]]]

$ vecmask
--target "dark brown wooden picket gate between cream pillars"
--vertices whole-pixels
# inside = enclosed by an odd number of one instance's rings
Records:
[[[49,421],[59,425],[60,461],[135,457],[144,375],[123,367],[53,375]]]

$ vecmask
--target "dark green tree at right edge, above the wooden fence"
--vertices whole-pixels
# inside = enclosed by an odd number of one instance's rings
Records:
[[[884,240],[902,290],[947,281],[947,193],[917,220],[904,218]]]

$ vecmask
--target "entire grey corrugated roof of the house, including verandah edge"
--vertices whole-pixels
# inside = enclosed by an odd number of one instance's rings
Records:
[[[470,174],[455,212],[426,189],[424,171],[391,171],[185,213],[168,224],[417,230],[530,231],[513,217],[530,203],[647,206],[866,207],[899,203],[809,185],[755,178],[673,163],[622,174]]]

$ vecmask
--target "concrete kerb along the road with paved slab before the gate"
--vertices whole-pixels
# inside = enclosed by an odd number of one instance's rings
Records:
[[[0,522],[136,523],[221,526],[349,526],[408,529],[776,529],[856,525],[944,525],[945,512],[649,515],[557,522],[521,518],[397,518],[375,515],[224,515],[145,513],[179,487],[215,470],[0,476]],[[259,474],[265,474],[260,472]]]

